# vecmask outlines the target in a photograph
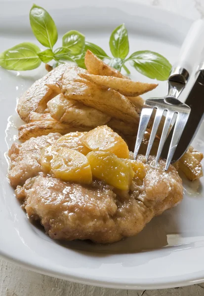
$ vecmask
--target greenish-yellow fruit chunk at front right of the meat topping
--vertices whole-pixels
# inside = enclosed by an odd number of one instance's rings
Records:
[[[128,190],[134,171],[129,162],[124,162],[111,152],[92,151],[86,155],[94,177],[116,188]]]

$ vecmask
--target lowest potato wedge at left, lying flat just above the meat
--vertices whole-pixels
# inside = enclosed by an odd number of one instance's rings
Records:
[[[18,138],[21,141],[27,141],[30,138],[48,135],[49,133],[60,133],[65,135],[70,132],[89,131],[90,128],[73,127],[69,124],[62,124],[55,120],[34,121],[21,125],[18,129]]]

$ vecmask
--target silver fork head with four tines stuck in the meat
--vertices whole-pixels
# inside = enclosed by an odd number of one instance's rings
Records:
[[[188,120],[189,113],[190,113],[190,107],[181,103],[178,100],[177,100],[177,104],[178,105],[169,104],[169,108],[168,108],[167,107],[168,104],[167,104],[167,102],[164,102],[163,98],[149,99],[145,102],[145,105],[144,105],[144,107],[141,111],[141,115],[140,115],[138,134],[137,134],[137,139],[136,139],[136,144],[135,144],[135,149],[134,149],[134,158],[135,159],[137,157],[140,145],[143,140],[144,133],[148,127],[148,123],[149,123],[150,118],[152,116],[153,110],[156,110],[156,114],[155,114],[154,123],[152,126],[152,132],[150,135],[149,144],[148,144],[146,156],[145,156],[147,160],[149,158],[149,155],[150,155],[150,152],[151,152],[151,149],[152,149],[152,146],[153,146],[153,143],[154,143],[157,131],[158,131],[158,127],[159,127],[161,119],[163,117],[163,113],[166,111],[165,121],[163,124],[163,131],[162,131],[160,144],[159,144],[157,156],[156,156],[156,164],[159,161],[165,140],[168,136],[168,133],[169,133],[172,125],[173,125],[173,121],[174,121],[173,119],[176,116],[175,124],[174,124],[174,131],[173,131],[171,143],[169,146],[168,155],[167,155],[167,159],[166,159],[166,165],[165,165],[165,170],[168,169],[168,167],[171,163],[173,154],[175,152],[175,149],[178,145],[178,142],[180,140],[180,137],[181,137],[184,127],[186,125],[186,122]],[[171,125],[171,123],[172,123],[172,125]]]

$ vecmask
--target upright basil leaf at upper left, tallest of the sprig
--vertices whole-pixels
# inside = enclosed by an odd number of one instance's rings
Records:
[[[45,47],[52,48],[57,42],[58,33],[49,13],[36,4],[30,10],[30,23],[33,34]]]

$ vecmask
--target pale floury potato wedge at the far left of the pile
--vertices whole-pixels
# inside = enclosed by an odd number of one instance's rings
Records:
[[[19,116],[25,122],[29,122],[29,117],[32,111],[44,113],[47,102],[52,99],[61,90],[58,87],[58,82],[70,65],[60,65],[54,70],[47,73],[41,79],[37,80],[19,99],[17,111]]]

